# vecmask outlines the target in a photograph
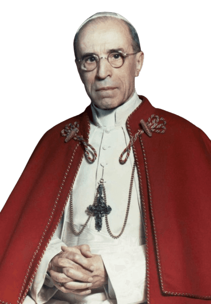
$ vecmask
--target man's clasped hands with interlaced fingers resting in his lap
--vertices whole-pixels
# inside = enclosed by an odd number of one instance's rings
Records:
[[[61,249],[62,252],[53,257],[48,266],[48,272],[59,290],[86,295],[93,288],[107,283],[103,260],[100,255],[91,253],[89,245],[62,246]]]

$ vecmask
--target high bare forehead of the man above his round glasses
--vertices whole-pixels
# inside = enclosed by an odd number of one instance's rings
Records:
[[[77,38],[77,51],[80,54],[109,52],[111,49],[120,48],[128,52],[131,47],[129,28],[117,18],[92,20],[81,28]]]

